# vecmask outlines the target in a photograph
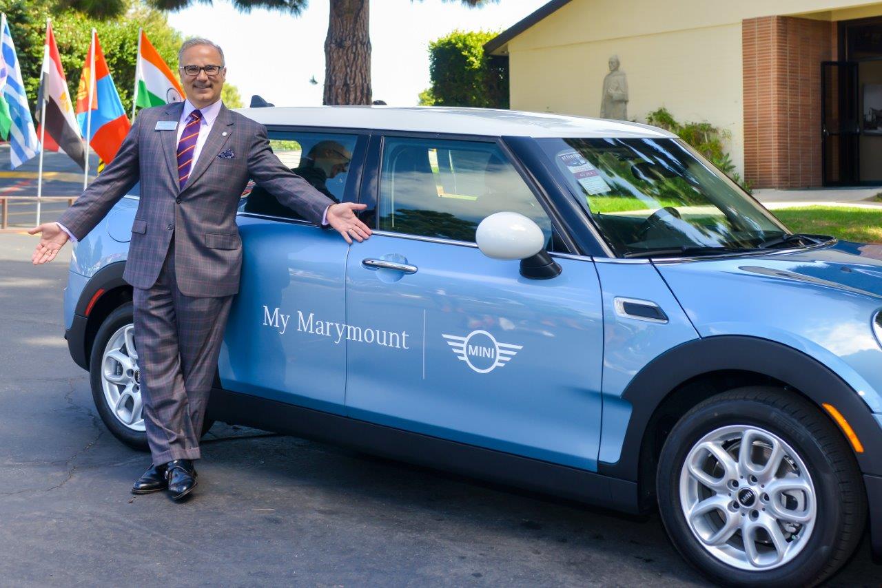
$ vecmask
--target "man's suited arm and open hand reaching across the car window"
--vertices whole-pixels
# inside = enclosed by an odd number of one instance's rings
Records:
[[[334,204],[310,182],[294,174],[273,155],[263,125],[258,125],[258,132],[249,148],[248,171],[251,178],[278,198],[282,205],[316,225],[326,221],[346,242],[351,243],[353,239],[360,242],[370,237],[370,227],[355,216],[355,211],[363,210],[366,205],[348,202]]]

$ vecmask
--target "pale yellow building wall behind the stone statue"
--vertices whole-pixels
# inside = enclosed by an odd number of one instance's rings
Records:
[[[643,123],[664,106],[678,121],[728,130],[743,174],[742,20],[876,14],[878,0],[573,0],[508,42],[511,108],[599,116],[609,56],[617,55],[628,118]]]

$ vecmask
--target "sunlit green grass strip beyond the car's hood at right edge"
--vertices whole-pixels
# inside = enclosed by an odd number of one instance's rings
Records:
[[[804,206],[772,211],[796,233],[831,234],[844,241],[882,243],[882,207]]]

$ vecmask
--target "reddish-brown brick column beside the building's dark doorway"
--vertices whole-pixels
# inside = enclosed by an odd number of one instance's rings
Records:
[[[831,23],[764,17],[742,23],[744,177],[756,188],[821,185],[821,62]]]

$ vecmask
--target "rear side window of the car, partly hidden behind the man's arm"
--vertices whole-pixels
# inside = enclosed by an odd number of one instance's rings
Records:
[[[273,154],[296,175],[331,198],[341,202],[349,180],[349,163],[355,151],[355,135],[315,132],[271,132]],[[269,190],[259,183],[249,186],[240,207],[243,212],[265,214],[283,219],[303,219],[281,205]]]

